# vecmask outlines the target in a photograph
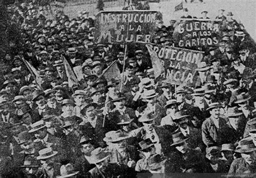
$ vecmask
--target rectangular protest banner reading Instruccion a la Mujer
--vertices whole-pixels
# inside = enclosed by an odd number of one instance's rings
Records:
[[[96,15],[95,42],[127,44],[150,42],[157,11],[102,11]]]

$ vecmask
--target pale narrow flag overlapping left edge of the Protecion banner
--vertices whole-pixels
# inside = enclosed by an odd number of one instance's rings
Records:
[[[161,73],[164,72],[164,67],[160,59],[158,58],[157,53],[149,45],[146,45],[146,47],[147,50],[149,50],[150,58],[152,61],[152,67],[154,69],[154,79],[157,79],[157,77],[159,77]]]

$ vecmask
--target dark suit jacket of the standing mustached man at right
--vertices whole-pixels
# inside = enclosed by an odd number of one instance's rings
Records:
[[[207,147],[231,143],[230,128],[224,118],[219,118],[219,129],[214,125],[212,118],[207,118],[202,125],[202,137]]]

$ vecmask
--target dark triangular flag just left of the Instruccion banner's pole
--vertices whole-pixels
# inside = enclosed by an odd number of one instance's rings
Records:
[[[107,82],[111,81],[111,79],[121,81],[121,74],[117,66],[117,61],[114,61],[109,67],[107,67],[103,71],[102,76],[105,77]]]

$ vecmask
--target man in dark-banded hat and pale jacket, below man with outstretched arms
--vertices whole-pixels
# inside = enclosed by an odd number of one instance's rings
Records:
[[[150,139],[142,140],[139,143],[140,149],[138,150],[143,154],[143,158],[136,163],[136,172],[142,172],[143,170],[149,170],[149,158],[156,154],[156,148]]]

